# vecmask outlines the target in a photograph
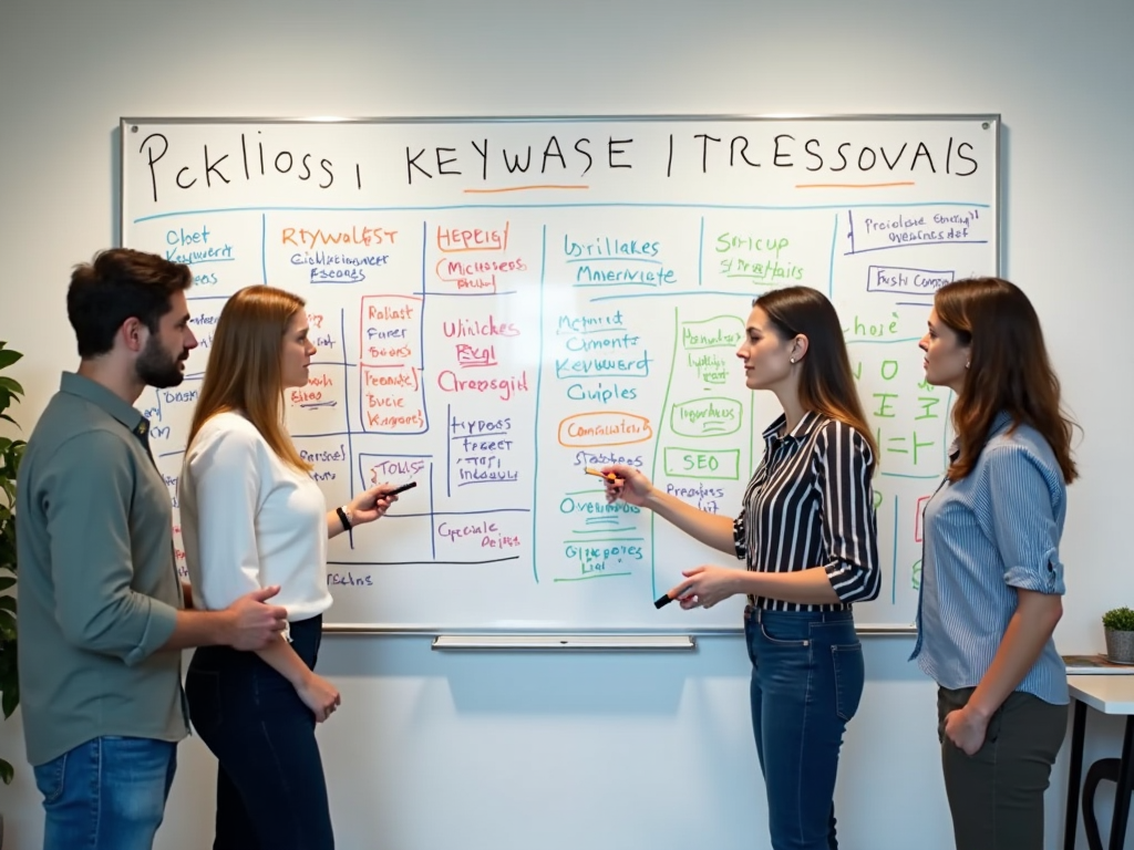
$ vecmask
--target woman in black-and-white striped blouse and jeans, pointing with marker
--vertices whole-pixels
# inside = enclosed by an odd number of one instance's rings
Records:
[[[878,595],[871,476],[874,442],[855,393],[835,308],[805,287],[752,305],[736,352],[752,390],[784,414],[764,431],[764,457],[736,519],[701,511],[640,471],[609,466],[607,498],[649,508],[745,562],[696,567],[669,592],[682,607],[746,594],[752,725],[773,850],[832,850],[835,775],[864,670],[853,602]]]

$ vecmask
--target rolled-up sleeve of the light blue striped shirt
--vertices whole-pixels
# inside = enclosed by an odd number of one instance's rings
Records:
[[[1004,580],[1021,590],[1063,595],[1056,511],[1066,499],[1063,476],[1018,445],[985,449],[991,510],[985,534],[1004,561]]]

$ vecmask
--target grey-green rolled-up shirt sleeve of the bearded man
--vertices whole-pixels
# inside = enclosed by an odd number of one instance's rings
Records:
[[[135,470],[124,452],[121,437],[103,431],[68,440],[46,464],[43,509],[64,638],[133,665],[169,640],[177,609],[132,587]]]

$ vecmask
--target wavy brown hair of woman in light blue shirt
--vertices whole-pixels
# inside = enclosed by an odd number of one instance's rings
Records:
[[[1064,481],[1075,481],[1078,471],[1070,452],[1075,423],[1063,410],[1059,379],[1027,296],[1001,278],[971,278],[937,290],[933,308],[959,342],[971,347],[965,383],[953,406],[960,454],[949,466],[949,478],[958,481],[973,470],[992,422],[1004,410],[1013,427],[1025,424],[1040,432]]]

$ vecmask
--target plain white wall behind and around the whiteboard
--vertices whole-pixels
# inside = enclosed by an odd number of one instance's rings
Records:
[[[0,339],[29,352],[25,426],[74,364],[71,264],[117,238],[120,116],[1000,112],[1005,273],[1033,295],[1085,426],[1064,541],[1064,652],[1134,603],[1122,483],[1134,471],[1134,3],[1092,0],[5,0]],[[847,736],[846,848],[945,850],[933,690],[906,638],[868,641]],[[426,638],[332,637],[345,705],[321,731],[346,850],[765,847],[736,638],[691,656],[477,656]],[[1092,717],[1089,757],[1120,725]],[[0,753],[23,754],[18,715]],[[1066,754],[1065,754],[1066,755]],[[209,845],[197,741],[159,838]],[[1061,842],[1057,765],[1049,847]],[[37,848],[20,763],[6,847]],[[1134,847],[1134,841],[1127,842]]]

